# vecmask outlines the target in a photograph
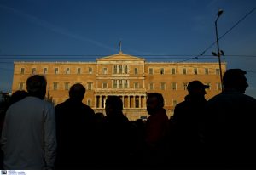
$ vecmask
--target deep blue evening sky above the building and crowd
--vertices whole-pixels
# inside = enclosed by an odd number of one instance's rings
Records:
[[[218,62],[220,8],[221,60],[247,71],[256,98],[255,0],[0,0],[0,91],[11,92],[14,61],[94,61],[119,41],[146,61]]]

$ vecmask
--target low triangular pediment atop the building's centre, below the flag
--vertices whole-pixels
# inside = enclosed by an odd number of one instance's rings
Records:
[[[97,62],[102,62],[102,61],[145,61],[145,59],[131,56],[129,54],[123,54],[122,52],[119,52],[119,54],[113,54],[107,57],[102,57],[99,59],[96,59]]]

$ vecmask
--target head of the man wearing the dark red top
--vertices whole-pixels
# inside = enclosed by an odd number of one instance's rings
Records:
[[[147,94],[147,111],[152,115],[161,110],[165,105],[164,98],[160,93]]]

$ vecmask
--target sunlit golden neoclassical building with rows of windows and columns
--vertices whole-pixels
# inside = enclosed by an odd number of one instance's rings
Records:
[[[162,93],[165,109],[171,116],[177,103],[187,95],[189,82],[199,80],[210,86],[206,98],[221,92],[217,62],[174,63],[146,62],[128,54],[110,55],[96,62],[15,62],[12,91],[26,90],[26,79],[33,74],[47,79],[47,95],[55,104],[68,98],[69,88],[80,82],[86,88],[84,104],[95,112],[105,112],[108,95],[118,95],[124,103],[124,114],[130,120],[148,116],[147,93]],[[222,71],[226,64],[222,63]]]

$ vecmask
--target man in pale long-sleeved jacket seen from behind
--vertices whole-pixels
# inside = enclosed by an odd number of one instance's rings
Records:
[[[4,169],[52,169],[55,163],[55,108],[44,101],[44,76],[26,81],[28,97],[6,112],[1,138]]]

